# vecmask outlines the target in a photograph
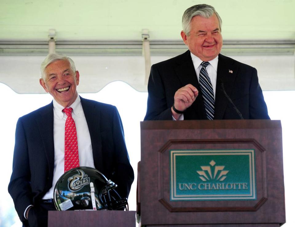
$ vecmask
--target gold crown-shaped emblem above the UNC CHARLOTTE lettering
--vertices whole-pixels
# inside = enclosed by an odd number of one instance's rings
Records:
[[[207,181],[207,180],[223,181],[224,179],[226,179],[225,175],[229,172],[229,170],[223,170],[225,167],[224,165],[215,165],[216,162],[214,160],[210,161],[209,164],[210,165],[208,165],[208,166],[201,166],[202,171],[197,171],[197,173],[200,175],[199,178],[201,180],[203,180],[203,181]],[[212,176],[211,169],[214,169],[213,176]]]

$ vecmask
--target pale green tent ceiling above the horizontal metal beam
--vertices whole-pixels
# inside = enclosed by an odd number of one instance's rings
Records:
[[[179,40],[185,9],[206,3],[222,17],[224,40],[295,39],[294,0],[1,0],[0,40]]]

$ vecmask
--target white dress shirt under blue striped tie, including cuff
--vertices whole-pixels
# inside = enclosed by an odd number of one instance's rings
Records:
[[[194,64],[194,68],[197,74],[197,78],[198,78],[198,82],[199,81],[199,75],[200,75],[200,71],[202,69],[202,65],[201,63],[203,62],[201,59],[199,59],[197,56],[193,55],[191,53],[191,60],[193,61]],[[218,55],[216,58],[214,58],[211,61],[208,61],[210,64],[206,67],[206,70],[208,72],[209,78],[211,80],[211,84],[212,84],[212,88],[213,88],[213,93],[214,93],[214,100],[215,100],[215,90],[216,90],[216,80],[217,80],[217,65],[218,65]],[[176,120],[173,116],[172,116],[173,120]],[[183,114],[181,114],[178,118],[178,120],[184,120],[183,119]]]

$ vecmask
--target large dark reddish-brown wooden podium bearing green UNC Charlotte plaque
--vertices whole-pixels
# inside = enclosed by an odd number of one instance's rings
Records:
[[[139,214],[141,226],[274,227],[285,223],[280,121],[144,121],[140,123],[140,127],[141,161],[138,165],[137,214]],[[173,163],[171,152],[215,150],[222,151],[222,154],[225,154],[225,151],[252,151],[254,184],[251,184],[253,193],[251,192],[250,199],[245,199],[248,197],[238,197],[238,199],[225,197],[226,199],[201,198],[198,200],[198,195],[195,195],[194,199],[184,200],[177,197],[174,189],[171,193],[173,186],[171,182],[174,181],[171,175],[174,171],[171,164]],[[215,162],[210,162],[210,165],[215,165]],[[202,176],[198,176],[198,173],[204,174],[205,171],[197,170],[209,168],[210,165],[208,167],[198,165],[192,174],[195,174],[196,179],[200,179]],[[223,167],[226,169],[229,166]],[[218,166],[218,168],[221,167]],[[227,176],[233,173],[234,171],[231,171]],[[226,175],[226,172],[223,172],[223,175]],[[203,180],[206,179],[203,177]],[[204,189],[205,186],[211,185],[207,189],[212,191],[216,189],[216,185],[219,189],[222,187],[221,182],[205,183],[199,186],[194,183],[183,185],[175,183],[175,185],[182,190],[185,186],[189,190],[198,187]],[[213,184],[214,187],[212,187]],[[223,187],[224,185],[223,183]],[[231,185],[232,189],[234,184],[229,183],[228,185]],[[241,187],[242,184],[236,183],[235,185]]]

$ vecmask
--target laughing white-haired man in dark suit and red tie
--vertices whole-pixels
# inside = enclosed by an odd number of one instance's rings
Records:
[[[72,59],[49,54],[41,64],[40,84],[53,102],[18,119],[8,191],[25,226],[46,226],[47,211],[55,210],[55,183],[71,165],[65,158],[68,110],[76,127],[75,165],[96,168],[128,198],[134,173],[120,115],[112,105],[80,97],[79,79]]]

